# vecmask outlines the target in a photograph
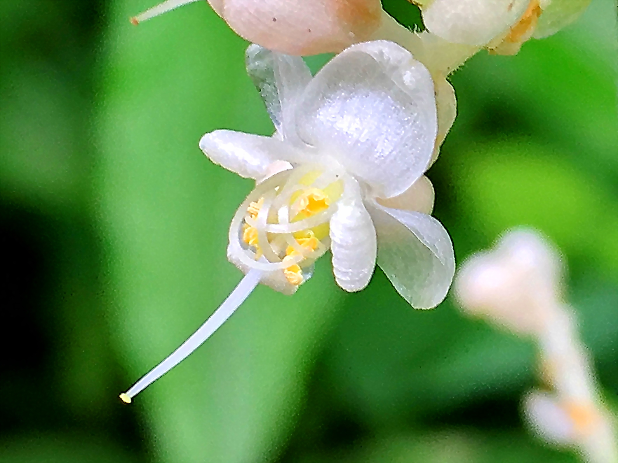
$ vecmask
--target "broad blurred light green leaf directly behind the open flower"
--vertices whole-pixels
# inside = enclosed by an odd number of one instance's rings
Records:
[[[246,43],[205,2],[132,27],[117,1],[99,122],[112,327],[127,386],[175,349],[242,274],[227,228],[251,182],[197,147],[215,128],[272,126],[244,70]],[[300,406],[341,290],[328,259],[292,297],[260,287],[187,361],[135,399],[158,461],[272,459]],[[121,391],[118,391],[121,392]]]

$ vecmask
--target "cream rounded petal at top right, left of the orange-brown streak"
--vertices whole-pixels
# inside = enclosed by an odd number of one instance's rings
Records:
[[[529,2],[433,0],[423,9],[423,21],[429,31],[445,40],[484,46],[506,33],[523,15]]]

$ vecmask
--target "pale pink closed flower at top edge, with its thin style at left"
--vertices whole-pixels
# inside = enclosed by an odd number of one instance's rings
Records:
[[[167,0],[141,15],[141,22],[197,0]],[[238,35],[292,55],[339,52],[369,40],[381,21],[379,0],[208,0]]]

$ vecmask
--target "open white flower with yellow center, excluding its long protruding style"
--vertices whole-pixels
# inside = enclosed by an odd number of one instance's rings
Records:
[[[454,256],[446,230],[427,215],[433,189],[423,173],[437,123],[425,67],[375,41],[346,49],[314,78],[302,59],[256,45],[247,69],[276,133],[217,130],[200,141],[213,162],[258,180],[232,220],[229,260],[291,294],[328,248],[347,291],[365,288],[377,256],[412,306],[439,304]]]

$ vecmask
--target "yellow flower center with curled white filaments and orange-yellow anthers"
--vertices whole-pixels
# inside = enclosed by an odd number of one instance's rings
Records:
[[[234,245],[242,248],[244,264],[282,270],[287,282],[300,285],[330,246],[329,221],[343,191],[342,175],[320,166],[277,173],[240,206],[232,220],[231,245],[238,233]]]

